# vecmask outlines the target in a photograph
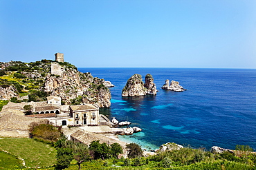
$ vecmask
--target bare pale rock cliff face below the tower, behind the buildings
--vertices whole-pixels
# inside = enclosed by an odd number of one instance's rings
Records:
[[[44,81],[44,91],[60,96],[66,104],[74,100],[76,104],[97,104],[99,107],[110,107],[111,94],[104,86],[104,79],[93,78],[90,73],[82,73],[65,67],[62,74],[48,74]]]

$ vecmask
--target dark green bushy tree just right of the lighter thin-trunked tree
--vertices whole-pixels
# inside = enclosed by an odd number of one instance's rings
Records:
[[[89,149],[93,151],[94,159],[110,158],[110,147],[106,143],[100,144],[100,140],[91,142]]]

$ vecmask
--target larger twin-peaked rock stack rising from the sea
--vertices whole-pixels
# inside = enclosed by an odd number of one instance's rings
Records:
[[[125,87],[122,89],[123,97],[145,96],[146,94],[156,95],[156,84],[151,74],[145,77],[145,85],[140,74],[134,74],[127,81]]]

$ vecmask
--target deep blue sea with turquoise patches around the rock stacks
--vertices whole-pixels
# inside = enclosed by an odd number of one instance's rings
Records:
[[[120,140],[157,149],[166,142],[194,148],[219,146],[256,149],[256,70],[192,68],[78,68],[111,81],[111,107],[101,109],[143,129]],[[156,96],[122,97],[134,74],[152,74]],[[179,81],[185,92],[161,89],[165,80]]]

